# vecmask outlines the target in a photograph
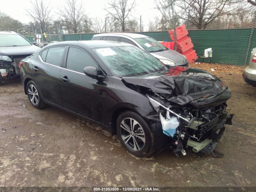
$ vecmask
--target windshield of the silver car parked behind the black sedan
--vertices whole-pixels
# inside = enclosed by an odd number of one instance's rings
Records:
[[[136,38],[138,44],[140,44],[147,52],[158,52],[167,50],[165,46],[160,44],[157,40],[154,40],[151,37],[146,38]]]

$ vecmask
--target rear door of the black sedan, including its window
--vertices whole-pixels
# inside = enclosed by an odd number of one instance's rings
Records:
[[[62,106],[60,96],[60,71],[66,46],[43,50],[32,65],[33,76],[42,96],[48,102]]]

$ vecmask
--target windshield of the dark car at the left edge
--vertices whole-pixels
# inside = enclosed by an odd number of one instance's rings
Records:
[[[30,42],[18,34],[0,34],[0,47],[27,45],[31,45]]]

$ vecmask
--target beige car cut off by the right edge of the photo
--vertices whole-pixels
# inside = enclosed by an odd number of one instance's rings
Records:
[[[256,48],[252,50],[249,66],[243,72],[244,81],[256,87]]]

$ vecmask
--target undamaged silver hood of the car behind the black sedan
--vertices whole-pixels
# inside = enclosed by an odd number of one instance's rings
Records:
[[[184,65],[188,62],[188,60],[182,54],[170,49],[159,52],[150,52],[150,54],[158,59],[171,60],[177,65]]]

